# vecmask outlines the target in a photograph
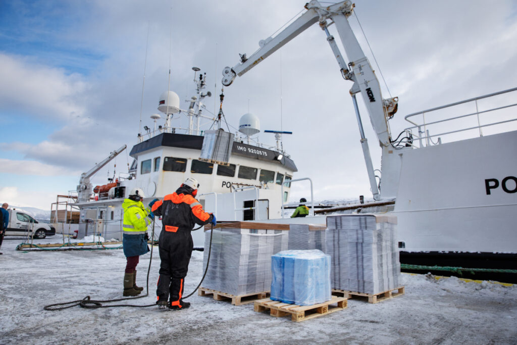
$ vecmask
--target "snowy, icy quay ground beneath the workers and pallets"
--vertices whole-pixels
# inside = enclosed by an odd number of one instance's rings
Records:
[[[56,238],[58,240],[58,238]],[[56,239],[37,240],[55,243]],[[20,238],[6,237],[0,249],[0,343],[517,343],[517,287],[495,283],[436,280],[403,274],[406,294],[295,323],[253,311],[253,305],[194,294],[190,309],[83,309],[45,311],[43,306],[122,297],[125,257],[120,249],[16,251]],[[156,249],[156,248],[155,248]],[[145,287],[149,254],[141,257],[138,283]],[[203,253],[194,251],[186,279],[191,292],[203,273]],[[133,304],[153,304],[157,250],[150,294]]]

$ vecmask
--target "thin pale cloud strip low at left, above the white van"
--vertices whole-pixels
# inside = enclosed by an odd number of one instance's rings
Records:
[[[34,160],[11,160],[0,158],[0,173],[16,175],[59,176],[79,175],[81,172],[63,169]]]

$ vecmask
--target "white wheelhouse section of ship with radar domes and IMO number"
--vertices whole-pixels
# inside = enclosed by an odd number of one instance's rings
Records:
[[[290,132],[268,130],[275,135],[276,145],[258,142],[254,136],[260,129],[260,119],[247,113],[239,121],[239,130],[230,132],[222,112],[224,95],[220,95],[217,116],[203,114],[204,99],[210,97],[206,88],[206,73],[193,67],[196,94],[189,107],[180,109],[179,97],[173,91],[164,92],[153,114],[154,128],[144,126],[129,155],[133,161],[128,172],[110,178],[107,184],[93,186],[90,178],[126,149],[126,145],[84,172],[77,190],[53,204],[53,219],[60,219],[57,229],[78,238],[99,235],[104,239],[121,239],[122,201],[133,188],[144,191],[144,204],[174,192],[188,177],[200,183],[197,199],[207,212],[215,212],[221,220],[267,220],[281,217],[281,205],[288,200],[289,181],[297,171],[294,161],[282,148],[282,134]],[[173,124],[173,118],[188,117],[188,127]],[[163,121],[163,125],[159,121]],[[226,130],[224,126],[226,125]],[[223,207],[205,204],[206,197],[221,201],[224,194],[231,197]],[[211,200],[211,199],[210,199]],[[61,208],[61,209],[59,209]],[[231,216],[224,216],[226,213]],[[71,221],[74,216],[75,221]],[[68,226],[65,225],[68,223]],[[70,223],[75,223],[72,227]],[[161,222],[156,224],[157,238]],[[202,232],[193,232],[194,245],[202,247]]]

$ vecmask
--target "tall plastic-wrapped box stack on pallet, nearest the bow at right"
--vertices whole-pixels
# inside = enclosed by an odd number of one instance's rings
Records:
[[[327,217],[333,289],[377,294],[399,287],[396,223],[396,217],[384,215]]]

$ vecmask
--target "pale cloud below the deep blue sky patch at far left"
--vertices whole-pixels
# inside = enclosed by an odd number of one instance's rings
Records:
[[[39,118],[80,116],[78,96],[87,89],[78,74],[40,65],[31,58],[0,53],[0,103]]]

